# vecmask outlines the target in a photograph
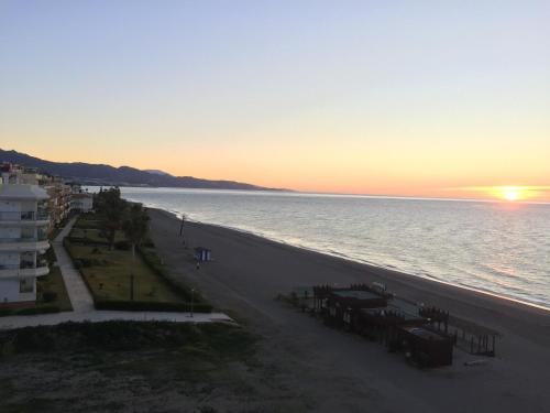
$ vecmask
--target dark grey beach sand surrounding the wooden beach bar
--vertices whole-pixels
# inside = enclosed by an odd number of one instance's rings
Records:
[[[186,222],[186,249],[175,216],[154,209],[151,216],[154,242],[174,276],[262,337],[265,380],[293,394],[285,411],[550,412],[548,311],[217,226]],[[210,248],[215,259],[198,270],[190,257],[196,246]],[[497,357],[455,350],[453,366],[420,370],[275,300],[297,285],[372,281],[496,329]],[[464,366],[477,359],[488,362]]]

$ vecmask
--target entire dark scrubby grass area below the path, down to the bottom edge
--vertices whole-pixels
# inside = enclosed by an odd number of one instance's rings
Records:
[[[0,332],[0,411],[165,411],[168,398],[177,411],[212,412],[199,409],[205,399],[238,403],[244,381],[260,382],[258,340],[222,324],[65,323]]]

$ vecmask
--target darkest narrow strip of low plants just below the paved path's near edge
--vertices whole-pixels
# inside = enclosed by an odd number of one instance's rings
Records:
[[[29,352],[82,352],[86,349],[177,349],[211,362],[223,362],[251,356],[257,339],[243,328],[219,323],[69,322],[0,332],[0,357]]]

